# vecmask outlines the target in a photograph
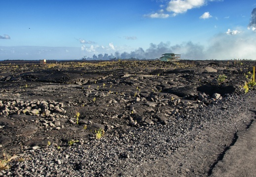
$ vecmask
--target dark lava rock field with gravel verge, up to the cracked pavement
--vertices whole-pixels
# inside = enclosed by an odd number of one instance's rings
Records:
[[[255,119],[254,65],[2,64],[0,176],[210,176]]]

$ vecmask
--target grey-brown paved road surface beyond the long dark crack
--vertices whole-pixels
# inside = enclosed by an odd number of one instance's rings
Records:
[[[256,176],[256,122],[239,132],[234,146],[228,149],[213,169],[211,177]]]

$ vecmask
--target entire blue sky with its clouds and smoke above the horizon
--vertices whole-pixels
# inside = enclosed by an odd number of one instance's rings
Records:
[[[255,0],[0,0],[0,60],[256,59]]]

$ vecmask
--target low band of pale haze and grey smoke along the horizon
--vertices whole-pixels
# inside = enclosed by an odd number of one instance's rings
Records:
[[[138,48],[130,52],[119,52],[120,47],[109,46],[79,47],[1,47],[0,60],[3,59],[157,59],[164,53],[181,54],[182,59],[256,59],[256,35],[252,30],[228,29],[212,37],[209,46],[191,41],[181,44],[170,42],[150,43],[147,49]],[[100,52],[102,51],[102,52]]]

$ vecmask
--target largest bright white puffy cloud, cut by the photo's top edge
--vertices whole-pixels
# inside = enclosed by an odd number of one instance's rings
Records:
[[[170,0],[166,8],[169,12],[174,14],[185,13],[187,10],[201,7],[205,4],[205,0]]]

